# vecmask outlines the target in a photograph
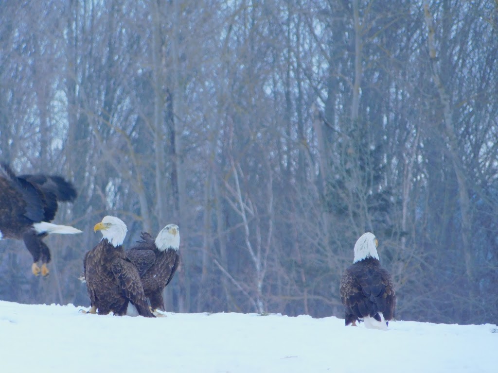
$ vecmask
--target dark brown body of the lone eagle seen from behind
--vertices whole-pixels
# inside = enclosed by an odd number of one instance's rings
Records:
[[[391,276],[375,258],[350,266],[341,279],[340,293],[346,308],[346,325],[368,316],[381,321],[378,312],[386,321],[394,317],[396,295]]]

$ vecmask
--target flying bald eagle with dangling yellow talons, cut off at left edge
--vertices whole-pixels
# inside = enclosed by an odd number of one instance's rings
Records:
[[[0,165],[0,239],[24,241],[33,257],[33,275],[49,273],[50,250],[42,241],[47,234],[81,233],[73,227],[50,223],[57,212],[57,202],[72,202],[75,198],[74,187],[60,176],[16,176],[8,165]]]

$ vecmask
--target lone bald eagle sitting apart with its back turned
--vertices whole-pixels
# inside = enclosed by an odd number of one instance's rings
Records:
[[[367,328],[386,329],[394,317],[396,295],[389,273],[380,267],[378,241],[367,232],[355,244],[353,265],[343,274],[341,300],[346,308],[346,325],[365,321]]]

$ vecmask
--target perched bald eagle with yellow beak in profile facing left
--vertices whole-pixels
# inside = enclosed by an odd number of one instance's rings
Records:
[[[123,220],[105,216],[94,231],[101,231],[102,241],[85,254],[83,269],[90,296],[90,313],[125,315],[131,302],[138,314],[154,317],[143,292],[135,266],[124,255],[123,241],[127,228]]]

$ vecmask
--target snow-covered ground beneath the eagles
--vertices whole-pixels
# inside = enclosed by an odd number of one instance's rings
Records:
[[[498,372],[495,325],[241,313],[149,319],[0,301],[0,372]]]

